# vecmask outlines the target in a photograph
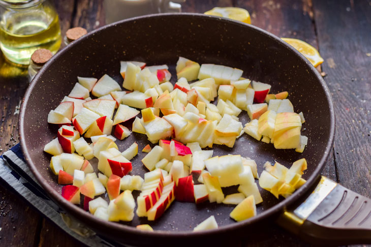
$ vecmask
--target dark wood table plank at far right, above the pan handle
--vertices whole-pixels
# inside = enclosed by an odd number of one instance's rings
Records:
[[[339,182],[371,197],[371,1],[315,0],[313,6],[335,106]]]

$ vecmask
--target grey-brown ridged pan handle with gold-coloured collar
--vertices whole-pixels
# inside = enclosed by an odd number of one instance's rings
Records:
[[[371,243],[371,200],[322,176],[313,193],[277,223],[316,244]]]

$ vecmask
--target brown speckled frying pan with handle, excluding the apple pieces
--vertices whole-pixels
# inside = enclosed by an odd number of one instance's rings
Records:
[[[306,119],[302,131],[309,142],[303,153],[276,150],[244,134],[233,148],[214,145],[213,156],[232,153],[250,157],[257,162],[259,174],[266,161],[289,167],[293,161],[305,158],[308,169],[303,178],[307,182],[287,199],[277,200],[261,190],[264,201],[257,207],[258,215],[238,223],[229,218],[231,206],[174,202],[158,221],[149,223],[154,232],[133,227],[148,223],[146,220],[135,217],[129,223],[104,222],[63,199],[57,178],[49,169],[51,157],[43,147],[57,131],[46,121],[48,112],[69,94],[76,77],[108,74],[121,84],[120,60],[167,64],[175,75],[178,56],[200,64],[239,68],[244,77],[271,84],[274,92],[289,91],[295,111],[302,111]],[[245,124],[248,120],[245,112],[241,113],[240,121]],[[24,157],[41,186],[61,208],[106,237],[136,245],[210,243],[246,236],[257,225],[276,221],[303,238],[321,243],[371,242],[371,201],[320,175],[334,137],[334,110],[324,80],[299,52],[255,26],[187,13],[148,15],[104,26],[61,50],[43,67],[26,91],[19,122]],[[148,143],[144,135],[133,133],[118,141],[119,150],[134,141],[139,148]],[[139,152],[132,161],[132,174],[146,172],[140,162],[143,156]],[[232,187],[224,192],[235,191]],[[219,229],[192,232],[210,215],[215,216]]]

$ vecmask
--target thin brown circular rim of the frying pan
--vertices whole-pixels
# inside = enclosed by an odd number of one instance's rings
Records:
[[[83,42],[84,40],[91,38],[96,33],[101,32],[101,30],[104,30],[106,28],[113,28],[117,24],[121,24],[121,23],[125,23],[125,22],[132,22],[132,21],[141,20],[141,19],[148,19],[148,18],[163,18],[163,17],[166,18],[166,17],[169,17],[169,16],[174,17],[174,18],[182,18],[182,16],[195,17],[195,18],[199,18],[199,19],[210,18],[210,19],[222,21],[222,22],[225,22],[225,23],[231,23],[231,24],[234,24],[234,25],[239,25],[243,28],[248,27],[248,28],[254,29],[255,32],[258,32],[258,33],[266,36],[269,39],[273,39],[275,42],[279,43],[280,45],[282,45],[282,46],[288,48],[289,50],[291,50],[291,52],[295,53],[302,61],[305,62],[305,64],[307,65],[306,69],[308,69],[308,71],[314,73],[315,77],[320,81],[320,84],[321,84],[322,89],[323,89],[323,91],[325,93],[325,96],[326,96],[327,103],[329,105],[330,137],[329,137],[329,140],[327,141],[325,151],[324,151],[324,153],[323,153],[323,155],[322,155],[322,157],[321,157],[321,159],[318,163],[318,166],[313,171],[313,173],[310,175],[307,182],[301,188],[299,188],[297,191],[295,191],[295,193],[293,195],[291,195],[290,197],[282,200],[281,202],[277,203],[276,205],[270,207],[269,209],[264,210],[262,213],[256,215],[256,217],[253,217],[253,218],[250,218],[248,220],[241,221],[241,222],[235,222],[233,224],[229,224],[229,225],[226,225],[226,226],[221,226],[218,229],[212,229],[212,230],[206,230],[206,231],[200,231],[200,232],[193,232],[193,231],[176,231],[176,232],[174,231],[173,232],[173,231],[164,231],[164,230],[156,230],[156,231],[153,231],[153,232],[140,231],[140,230],[138,230],[138,229],[136,229],[135,227],[132,227],[132,226],[127,226],[127,225],[120,224],[120,223],[106,222],[106,221],[100,220],[100,219],[94,217],[94,215],[90,214],[89,212],[84,211],[82,208],[76,207],[74,204],[68,202],[67,200],[65,200],[59,193],[57,193],[49,185],[49,183],[43,178],[41,173],[38,172],[37,167],[35,166],[34,162],[30,158],[29,152],[27,150],[26,141],[23,138],[24,136],[26,136],[25,135],[24,124],[23,124],[24,114],[25,114],[25,111],[26,111],[26,108],[27,108],[27,102],[28,102],[30,96],[32,95],[32,92],[33,92],[33,89],[34,89],[36,83],[39,81],[39,78],[41,77],[41,75],[45,71],[48,70],[49,65],[52,64],[54,62],[54,60],[58,59],[59,56],[68,52],[70,50],[70,47],[74,47],[74,46],[78,45],[80,42]],[[271,217],[272,215],[274,215],[276,213],[279,213],[279,212],[282,212],[284,210],[284,208],[286,208],[287,206],[292,205],[293,203],[297,202],[298,199],[300,197],[302,197],[305,193],[307,193],[308,190],[310,190],[310,188],[317,181],[317,178],[318,178],[319,174],[321,173],[321,170],[323,169],[323,167],[324,167],[324,165],[325,165],[325,163],[326,163],[326,161],[327,161],[327,159],[328,159],[328,157],[331,153],[331,147],[333,145],[334,133],[335,133],[335,114],[334,114],[334,107],[333,107],[333,102],[332,102],[332,97],[331,97],[330,91],[329,91],[329,89],[326,85],[326,82],[324,81],[324,79],[320,75],[320,73],[316,70],[315,67],[312,66],[310,61],[308,61],[300,52],[298,52],[292,46],[290,46],[289,44],[287,44],[286,42],[281,40],[279,37],[276,37],[275,35],[267,32],[266,30],[263,30],[259,27],[256,27],[256,26],[253,26],[253,25],[250,25],[250,24],[246,24],[246,23],[242,23],[242,22],[238,22],[238,21],[234,21],[234,20],[230,20],[230,19],[223,18],[223,17],[215,17],[215,16],[209,16],[209,15],[198,14],[198,13],[151,14],[151,15],[145,15],[145,16],[125,19],[125,20],[121,20],[121,21],[118,21],[118,22],[111,23],[109,25],[102,26],[102,27],[100,27],[96,30],[93,30],[92,32],[89,32],[87,35],[84,35],[80,39],[72,42],[71,44],[69,44],[68,46],[66,46],[62,50],[60,50],[57,54],[55,54],[43,66],[41,71],[32,80],[32,82],[30,83],[29,87],[27,88],[27,90],[25,92],[25,95],[24,95],[24,98],[22,100],[22,105],[21,105],[18,121],[19,121],[18,124],[19,124],[20,143],[21,143],[21,148],[22,148],[22,152],[23,152],[25,161],[28,164],[32,173],[37,178],[38,182],[43,187],[43,189],[51,196],[51,198],[54,201],[57,202],[58,205],[60,205],[67,212],[69,212],[74,217],[79,219],[81,222],[83,222],[83,223],[89,222],[89,223],[97,225],[97,227],[93,227],[93,229],[98,228],[98,226],[99,227],[103,226],[103,227],[106,228],[105,229],[106,231],[107,230],[109,231],[110,229],[115,230],[115,231],[119,230],[121,232],[126,232],[126,233],[133,234],[133,235],[140,236],[140,237],[144,237],[144,236],[145,237],[165,237],[165,236],[169,236],[169,237],[186,237],[186,236],[197,237],[197,236],[205,236],[205,235],[214,235],[214,234],[218,234],[218,233],[225,233],[225,232],[229,232],[229,231],[232,231],[232,230],[241,229],[244,226],[248,226],[248,225],[256,224],[258,222],[262,222],[262,221],[266,220],[267,218]]]

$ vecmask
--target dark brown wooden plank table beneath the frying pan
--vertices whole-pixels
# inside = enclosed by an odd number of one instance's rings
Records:
[[[105,24],[102,0],[55,1],[62,33]],[[187,0],[183,12],[203,13],[215,6],[248,10],[252,24],[278,37],[317,47],[336,113],[333,152],[323,174],[371,197],[371,1],[345,0]],[[18,111],[27,88],[26,68],[0,60],[0,154],[19,140]],[[313,96],[316,100],[316,96]],[[306,246],[274,224],[240,246]],[[0,246],[81,246],[0,183]]]

